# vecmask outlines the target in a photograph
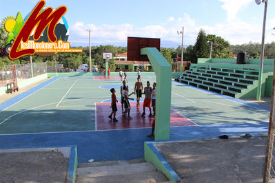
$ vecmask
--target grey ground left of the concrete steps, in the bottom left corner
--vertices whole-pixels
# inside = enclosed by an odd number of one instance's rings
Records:
[[[60,152],[0,153],[0,182],[65,182],[68,158]]]

